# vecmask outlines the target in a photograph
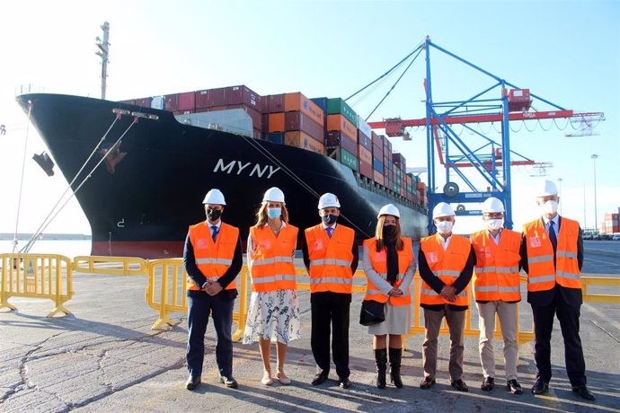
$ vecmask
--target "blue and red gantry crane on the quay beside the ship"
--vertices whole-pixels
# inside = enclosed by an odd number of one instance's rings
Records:
[[[491,87],[482,92],[474,94],[465,101],[433,101],[432,78],[430,70],[430,50],[434,48],[448,57],[464,63],[474,68],[494,81]],[[382,121],[368,122],[374,129],[385,129],[387,136],[403,136],[405,140],[410,139],[406,130],[407,127],[425,127],[427,134],[427,169],[428,169],[428,189],[429,189],[429,211],[439,202],[457,203],[457,215],[479,215],[480,211],[467,210],[464,204],[481,203],[486,198],[500,198],[505,205],[505,224],[507,228],[512,228],[512,206],[511,206],[511,165],[549,165],[549,163],[536,163],[527,157],[518,154],[510,149],[510,121],[527,121],[538,119],[569,119],[571,124],[580,125],[580,133],[571,136],[591,135],[591,128],[598,121],[605,120],[601,112],[575,113],[573,110],[564,109],[551,101],[547,101],[528,89],[507,82],[506,80],[492,75],[483,68],[476,66],[462,57],[441,48],[430,41],[427,37],[418,48],[414,49],[407,57],[403,58],[395,67],[400,66],[409,57],[418,57],[421,51],[426,53],[426,78],[424,88],[426,92],[426,117],[423,119],[384,119]],[[415,60],[413,57],[413,60]],[[413,61],[407,66],[412,66]],[[406,70],[405,69],[405,72]],[[390,71],[386,72],[388,75]],[[362,92],[368,86],[385,77],[380,76],[374,82],[362,88]],[[404,73],[403,73],[404,75]],[[403,77],[401,75],[398,81]],[[398,81],[396,83],[398,83]],[[390,89],[394,89],[395,84]],[[490,92],[499,90],[494,97],[489,98]],[[348,99],[359,92],[354,93]],[[387,92],[383,101],[390,93]],[[533,102],[542,102],[551,107],[551,110],[535,110]],[[379,104],[381,104],[381,102]],[[378,107],[378,105],[377,105]],[[375,108],[376,110],[376,108]],[[372,113],[374,113],[374,111]],[[371,116],[372,113],[369,115]],[[368,120],[368,119],[367,119]],[[500,123],[501,141],[496,142],[488,134],[483,134],[468,124],[481,124],[489,122]],[[466,136],[459,136],[454,129],[454,125],[462,125],[465,129],[476,136],[482,137],[485,144],[472,148],[468,145]],[[568,136],[568,135],[567,135]],[[512,159],[515,156],[516,159]],[[442,189],[438,189],[438,179],[435,175],[436,162],[439,162],[446,170],[446,183]],[[473,168],[478,176],[483,177],[484,185],[487,188],[478,189],[474,180],[467,174],[464,168]],[[456,172],[469,191],[462,191],[456,182],[451,180],[450,171]],[[471,170],[468,170],[471,171]],[[429,214],[429,231],[433,231],[432,216]]]

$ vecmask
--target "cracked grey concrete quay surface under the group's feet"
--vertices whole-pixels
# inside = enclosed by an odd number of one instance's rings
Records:
[[[584,303],[581,307],[581,339],[589,388],[597,396],[594,402],[571,393],[557,320],[552,343],[554,378],[548,395],[535,397],[529,391],[535,380],[532,343],[519,348],[518,373],[524,394],[505,391],[502,345],[497,340],[496,387],[491,392],[481,391],[477,338],[465,339],[464,380],[470,391],[456,391],[449,385],[449,344],[443,336],[438,383],[423,391],[418,388],[421,335],[407,340],[403,389],[389,383],[384,390],[376,389],[372,336],[358,323],[361,294],[354,294],[351,305],[353,386],[340,389],[333,367],[332,380],[312,386],[315,372],[306,291],[299,293],[303,338],[293,341],[288,349],[286,373],[292,385],[261,384],[256,343],[235,343],[234,375],[239,388],[219,384],[215,333],[209,324],[202,384],[197,391],[187,391],[186,314],[173,313],[176,325],[169,330],[151,330],[157,313],[145,303],[146,281],[146,277],[74,273],[75,295],[66,303],[73,314],[54,318],[46,317],[53,307],[49,300],[12,299],[18,310],[0,312],[0,411],[620,411],[617,304]],[[530,312],[529,305],[522,303],[520,311]],[[272,358],[275,369],[275,356]]]

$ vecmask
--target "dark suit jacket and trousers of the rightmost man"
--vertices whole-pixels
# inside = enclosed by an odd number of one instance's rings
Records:
[[[545,224],[544,220],[543,224]],[[562,233],[561,216],[558,216],[557,233]],[[574,242],[577,242],[577,261],[581,270],[583,265],[581,231]],[[528,273],[527,237],[525,234],[521,239],[520,254],[521,267]],[[567,288],[556,283],[549,290],[527,292],[527,303],[532,305],[532,315],[534,316],[536,378],[542,377],[545,382],[549,382],[551,379],[551,333],[554,329],[554,316],[557,314],[564,338],[566,373],[568,373],[572,386],[585,385],[586,365],[579,335],[580,305],[583,303],[581,289]]]

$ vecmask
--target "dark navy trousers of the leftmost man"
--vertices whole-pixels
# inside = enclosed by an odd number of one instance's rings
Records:
[[[187,297],[189,338],[187,342],[187,369],[190,375],[202,375],[205,358],[205,332],[209,313],[216,328],[216,360],[220,375],[233,374],[233,307],[235,300],[226,296],[212,297],[203,292],[191,292]]]

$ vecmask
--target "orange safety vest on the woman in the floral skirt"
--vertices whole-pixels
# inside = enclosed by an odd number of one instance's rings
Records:
[[[252,291],[270,291],[297,288],[293,253],[297,241],[297,227],[287,224],[276,237],[267,225],[250,228],[254,250],[250,259]]]

